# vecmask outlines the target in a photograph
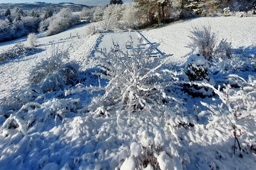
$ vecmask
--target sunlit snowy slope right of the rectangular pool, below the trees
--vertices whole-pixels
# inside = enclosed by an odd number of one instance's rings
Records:
[[[256,45],[256,20],[253,17],[204,17],[184,20],[165,25],[164,27],[141,31],[142,35],[151,42],[162,42],[159,50],[166,54],[174,54],[169,62],[181,65],[186,62],[191,49],[186,48],[189,42],[191,26],[197,24],[212,25],[214,31],[219,32],[219,39],[232,42],[234,49]]]

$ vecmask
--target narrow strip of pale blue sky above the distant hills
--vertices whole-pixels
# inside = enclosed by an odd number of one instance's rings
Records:
[[[123,0],[127,2],[131,0]],[[83,5],[99,5],[99,4],[108,4],[109,0],[0,0],[0,3],[24,3],[24,2],[50,2],[50,3],[59,3],[59,2],[73,2],[76,4]]]

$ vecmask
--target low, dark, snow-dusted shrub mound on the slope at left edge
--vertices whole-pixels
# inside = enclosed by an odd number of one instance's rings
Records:
[[[6,51],[0,53],[0,61],[8,60],[9,58],[16,58],[20,56],[27,56],[29,54],[34,54],[38,52],[38,48],[27,47],[22,42],[15,44]]]

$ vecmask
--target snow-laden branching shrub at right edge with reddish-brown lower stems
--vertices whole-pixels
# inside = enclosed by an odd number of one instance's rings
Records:
[[[203,86],[212,88],[222,101],[218,107],[212,107],[207,103],[201,102],[209,111],[202,111],[198,117],[203,117],[210,113],[209,124],[207,129],[218,125],[228,125],[227,128],[233,131],[234,154],[238,144],[239,156],[243,156],[243,152],[250,151],[250,148],[255,145],[255,116],[256,116],[256,102],[255,102],[255,77],[249,75],[249,81],[245,81],[238,75],[230,75],[240,79],[240,88],[231,88],[230,85],[224,84],[224,89],[221,86],[216,89],[208,83],[202,83]],[[240,138],[240,139],[239,139]],[[239,140],[238,140],[239,139]]]

